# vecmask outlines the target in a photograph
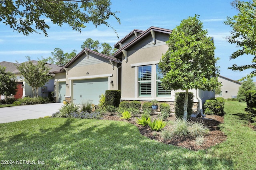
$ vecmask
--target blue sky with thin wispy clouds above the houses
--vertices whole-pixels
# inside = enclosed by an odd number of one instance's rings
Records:
[[[237,14],[232,8],[232,0],[111,0],[111,10],[116,11],[120,18],[119,24],[114,17],[108,23],[114,27],[118,36],[112,28],[106,25],[95,27],[92,23],[85,24],[82,33],[72,30],[68,25],[50,25],[44,34],[32,33],[28,36],[14,32],[10,26],[0,22],[0,62],[8,61],[19,63],[27,61],[26,56],[32,60],[38,60],[51,56],[55,48],[60,48],[64,53],[76,50],[79,53],[81,45],[87,38],[98,40],[100,43],[109,43],[113,46],[116,42],[130,33],[133,29],[146,30],[151,26],[165,29],[174,29],[180,22],[189,16],[200,15],[199,20],[203,22],[204,29],[208,30],[208,36],[214,37],[215,57],[220,58],[217,66],[220,66],[220,75],[238,80],[252,70],[243,72],[228,70],[232,64],[250,64],[252,57],[242,56],[230,60],[230,55],[238,49],[236,45],[230,44],[225,37],[230,35],[232,28],[225,25],[226,18]],[[119,38],[118,38],[119,37]],[[256,80],[256,78],[254,78]]]

